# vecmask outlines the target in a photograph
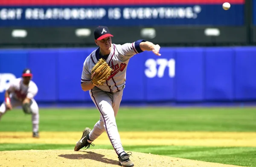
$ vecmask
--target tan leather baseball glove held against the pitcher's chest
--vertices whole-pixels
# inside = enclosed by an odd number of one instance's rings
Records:
[[[93,85],[103,85],[103,83],[109,78],[113,69],[108,65],[105,59],[99,59],[99,61],[91,69],[91,74],[95,72],[92,83]]]

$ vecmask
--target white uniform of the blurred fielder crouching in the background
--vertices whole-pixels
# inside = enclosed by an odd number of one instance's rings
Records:
[[[14,79],[11,83],[9,88],[6,90],[10,93],[10,102],[12,108],[17,106],[21,106],[23,100],[28,97],[31,99],[30,101],[30,108],[32,110],[32,125],[33,125],[33,132],[38,132],[39,128],[39,108],[38,104],[36,103],[34,97],[38,93],[38,87],[30,80],[29,85],[23,84],[23,78]],[[0,106],[0,116],[6,113],[6,104],[5,102],[2,103]]]

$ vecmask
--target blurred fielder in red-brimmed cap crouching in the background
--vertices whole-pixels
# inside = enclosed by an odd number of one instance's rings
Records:
[[[8,110],[21,106],[26,114],[32,114],[32,136],[39,137],[39,108],[35,102],[35,95],[38,93],[38,87],[31,81],[32,73],[29,68],[22,72],[22,77],[14,79],[5,92],[5,101],[0,106],[0,119]]]

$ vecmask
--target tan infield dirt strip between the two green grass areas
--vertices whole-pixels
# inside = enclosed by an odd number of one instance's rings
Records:
[[[30,132],[0,132],[0,143],[74,144],[81,132],[40,132],[40,139]],[[256,147],[256,132],[120,132],[124,145],[191,145]],[[110,144],[103,133],[94,144]]]

